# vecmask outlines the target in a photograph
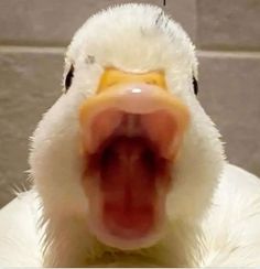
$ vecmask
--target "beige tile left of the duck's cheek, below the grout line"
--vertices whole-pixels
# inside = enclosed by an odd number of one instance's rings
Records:
[[[0,53],[0,206],[26,179],[29,137],[61,94],[63,57]]]

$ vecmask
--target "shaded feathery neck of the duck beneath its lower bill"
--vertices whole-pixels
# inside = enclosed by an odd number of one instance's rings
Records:
[[[191,252],[196,245],[199,228],[173,220],[169,234],[155,246],[122,251],[99,243],[91,236],[85,218],[48,218],[45,230],[44,267],[189,267]]]

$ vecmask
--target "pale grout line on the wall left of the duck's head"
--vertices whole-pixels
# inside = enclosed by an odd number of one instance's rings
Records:
[[[64,54],[64,46],[18,46],[18,45],[0,45],[0,53],[51,53]]]

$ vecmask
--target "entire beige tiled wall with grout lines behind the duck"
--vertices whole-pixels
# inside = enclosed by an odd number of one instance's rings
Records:
[[[26,185],[29,137],[61,95],[73,33],[97,10],[123,2],[0,0],[0,206],[13,186]],[[229,160],[260,175],[260,1],[167,0],[164,9],[197,46],[198,98]]]

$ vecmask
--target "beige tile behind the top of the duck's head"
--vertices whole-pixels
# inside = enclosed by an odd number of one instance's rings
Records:
[[[0,43],[67,45],[74,32],[93,13],[127,0],[1,0]],[[163,0],[143,0],[163,6]],[[195,0],[167,0],[165,10],[195,36]]]

